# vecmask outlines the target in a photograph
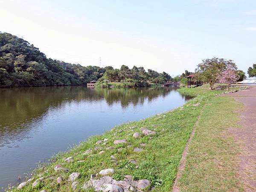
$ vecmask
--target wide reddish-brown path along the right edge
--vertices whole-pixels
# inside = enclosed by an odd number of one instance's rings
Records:
[[[243,146],[239,154],[238,172],[247,192],[256,191],[256,86],[236,93],[228,93],[236,101],[244,104],[244,110],[239,111],[242,128],[231,128],[235,141]]]

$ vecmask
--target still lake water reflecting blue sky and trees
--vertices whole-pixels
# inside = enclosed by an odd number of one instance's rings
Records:
[[[39,161],[115,125],[169,111],[191,99],[172,87],[85,86],[0,89],[0,187]],[[0,191],[3,189],[0,189]]]

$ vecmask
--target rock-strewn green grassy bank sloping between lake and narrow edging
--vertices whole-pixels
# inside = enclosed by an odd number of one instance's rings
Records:
[[[53,157],[52,163],[35,169],[32,180],[21,191],[73,190],[73,182],[69,180],[72,173],[79,173],[76,189],[80,189],[91,175],[96,175],[94,180],[99,181],[100,171],[107,168],[114,169],[111,176],[115,181],[124,180],[128,175],[133,181],[148,180],[150,183],[145,189],[168,191],[176,178],[180,158],[201,108],[208,97],[221,91],[212,93],[195,97],[175,110],[116,126],[69,151],[60,152]],[[143,127],[156,134],[144,134]],[[135,137],[134,133],[139,137]],[[124,139],[123,143],[115,143],[116,140]],[[56,165],[60,168],[57,171]],[[56,181],[58,177],[62,177],[63,183]]]

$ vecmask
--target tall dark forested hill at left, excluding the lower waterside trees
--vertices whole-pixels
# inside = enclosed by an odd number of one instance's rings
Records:
[[[0,87],[79,85],[104,74],[100,67],[83,67],[47,58],[29,42],[0,33]]]

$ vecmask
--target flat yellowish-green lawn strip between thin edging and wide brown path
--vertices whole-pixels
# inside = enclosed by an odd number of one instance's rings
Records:
[[[228,128],[238,127],[239,116],[234,111],[242,107],[224,96],[206,102],[178,181],[181,191],[243,191],[236,172],[240,148],[227,132]]]

